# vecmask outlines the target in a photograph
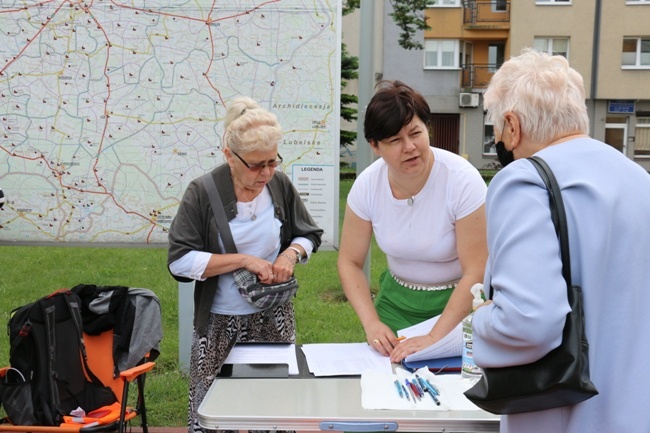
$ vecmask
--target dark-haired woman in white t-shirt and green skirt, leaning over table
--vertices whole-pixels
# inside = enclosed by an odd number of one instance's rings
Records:
[[[380,84],[364,120],[380,158],[348,195],[338,271],[368,343],[399,362],[470,312],[470,287],[483,282],[487,258],[487,187],[467,160],[430,147],[430,109],[419,92]],[[373,234],[388,261],[374,302],[363,270]],[[397,340],[398,329],[441,313],[427,335]]]

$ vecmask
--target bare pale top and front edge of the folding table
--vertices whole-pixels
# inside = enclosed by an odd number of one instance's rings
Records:
[[[370,432],[498,432],[500,419],[482,410],[367,410],[358,376],[219,377],[198,415],[209,429]]]

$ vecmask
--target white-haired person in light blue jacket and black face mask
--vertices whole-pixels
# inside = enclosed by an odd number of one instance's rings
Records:
[[[507,166],[488,188],[484,287],[494,295],[474,314],[474,359],[480,367],[528,364],[562,341],[570,306],[548,192],[526,159],[536,155],[562,190],[599,391],[573,406],[504,415],[501,431],[650,431],[647,382],[634,373],[650,358],[650,176],[588,136],[583,79],[564,57],[525,50],[511,58],[484,104]]]

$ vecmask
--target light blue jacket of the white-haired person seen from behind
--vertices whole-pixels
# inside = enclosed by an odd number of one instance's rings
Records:
[[[567,211],[574,284],[582,286],[591,379],[600,394],[575,406],[502,417],[502,432],[650,432],[650,175],[585,138],[537,153]],[[569,306],[548,193],[521,159],[490,183],[485,290],[473,319],[482,367],[535,361],[557,347]]]

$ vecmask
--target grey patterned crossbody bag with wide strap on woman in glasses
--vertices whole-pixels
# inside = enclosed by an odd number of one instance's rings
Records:
[[[221,197],[219,196],[217,186],[214,184],[214,179],[212,179],[210,173],[206,173],[201,176],[201,181],[208,193],[210,206],[212,206],[212,212],[217,221],[217,227],[219,228],[224,247],[228,253],[236,254],[237,247],[232,238],[230,225],[228,224],[226,212],[223,210]],[[286,304],[298,292],[298,281],[294,276],[283,283],[262,284],[258,282],[257,276],[247,269],[237,269],[233,274],[239,294],[246,302],[260,310],[267,310]]]

